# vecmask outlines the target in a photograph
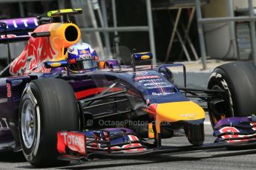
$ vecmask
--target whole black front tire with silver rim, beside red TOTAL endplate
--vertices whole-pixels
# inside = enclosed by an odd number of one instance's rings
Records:
[[[79,106],[72,87],[57,78],[31,81],[19,107],[19,138],[27,161],[36,167],[67,165],[57,160],[56,132],[62,130],[79,130]]]

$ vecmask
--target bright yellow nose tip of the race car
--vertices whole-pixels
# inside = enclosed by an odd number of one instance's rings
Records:
[[[193,101],[160,103],[157,105],[155,122],[157,133],[160,133],[162,122],[177,122],[180,120],[200,120],[206,118],[202,107]]]

